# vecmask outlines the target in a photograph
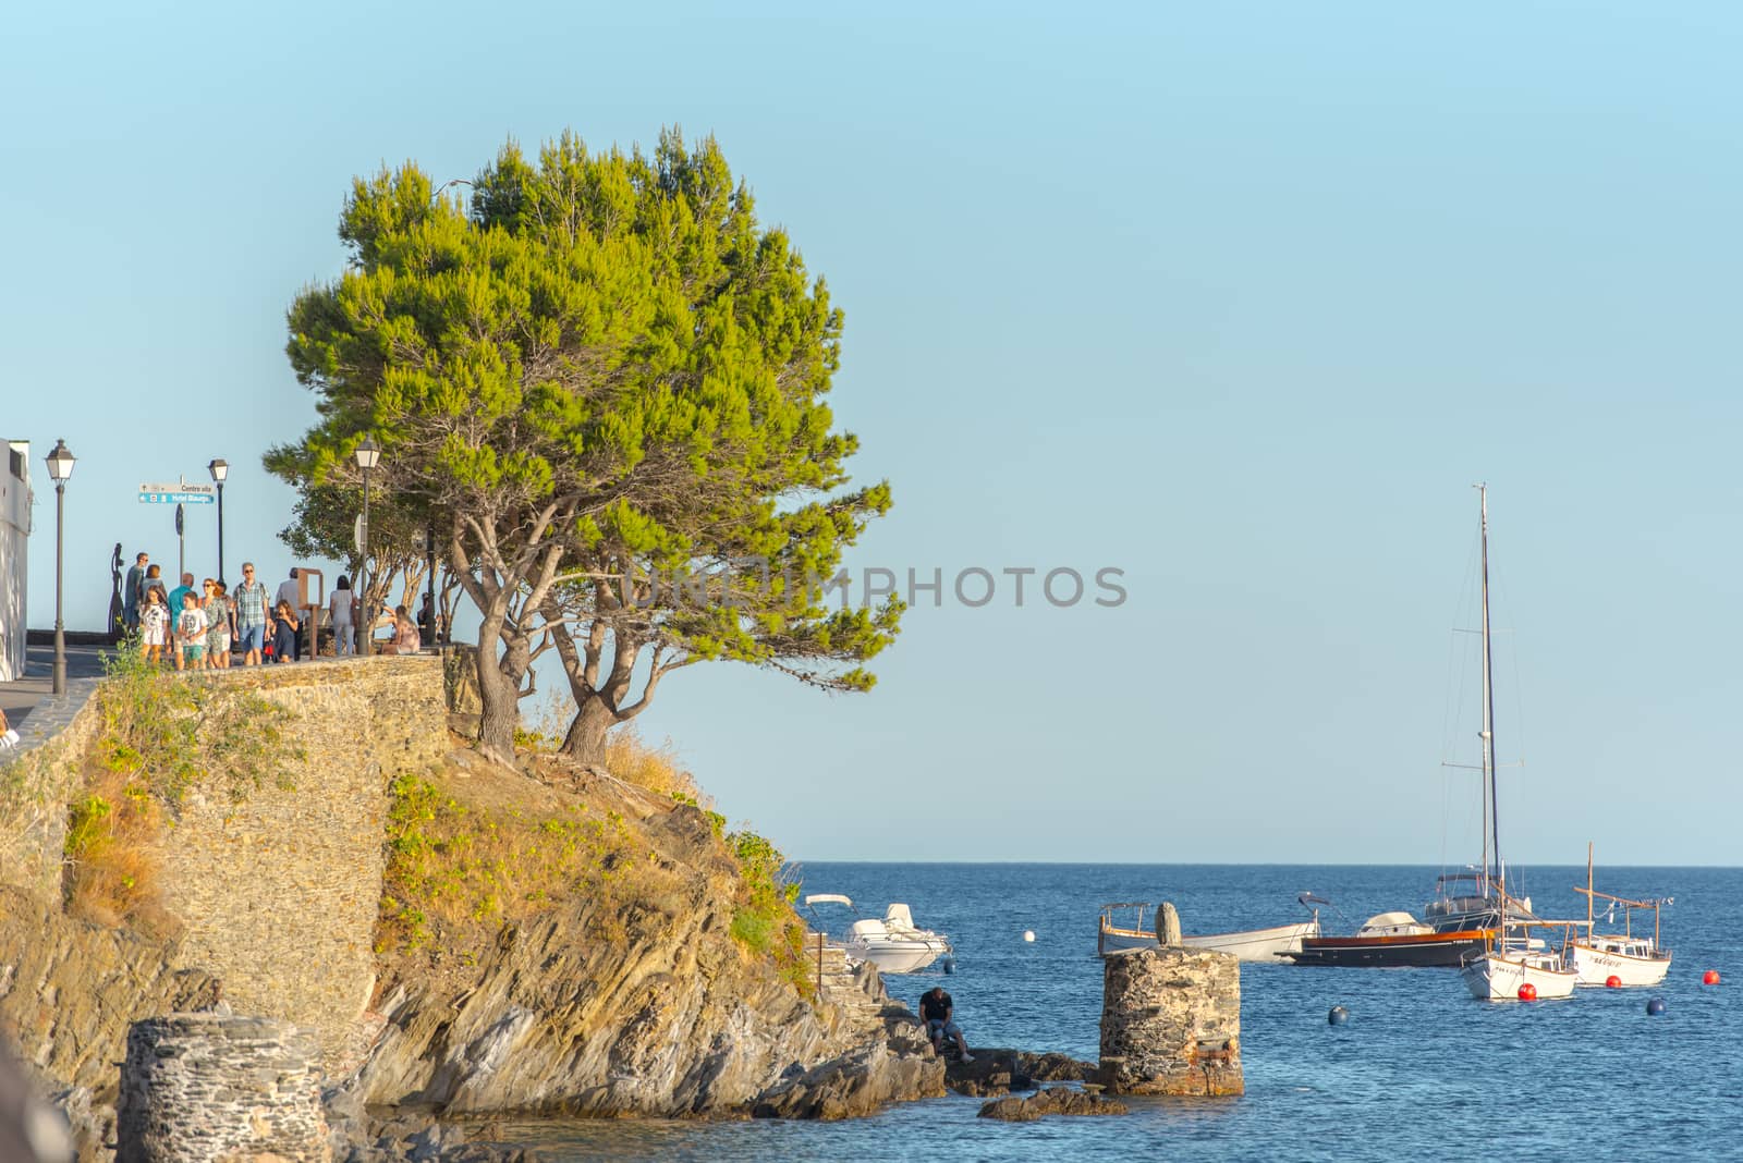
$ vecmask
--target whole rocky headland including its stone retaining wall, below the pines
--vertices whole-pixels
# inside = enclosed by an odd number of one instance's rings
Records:
[[[943,1064],[875,973],[837,959],[817,982],[791,949],[772,956],[797,931],[758,930],[718,817],[607,771],[485,763],[446,731],[437,660],[193,681],[200,724],[223,723],[225,700],[274,705],[284,763],[209,773],[164,804],[159,924],[68,916],[40,843],[28,867],[0,867],[0,884],[24,881],[0,891],[0,1039],[63,1106],[91,1107],[87,1146],[113,1125],[129,1022],[220,999],[317,1034],[352,1133],[364,1102],[844,1118],[943,1093]],[[82,723],[26,773],[70,817],[80,780],[113,776],[103,729]],[[417,796],[472,830],[408,832]],[[422,902],[394,879],[418,844]]]

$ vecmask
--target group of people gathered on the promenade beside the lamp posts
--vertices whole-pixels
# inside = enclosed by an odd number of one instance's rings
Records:
[[[192,573],[183,573],[181,585],[167,588],[162,568],[141,552],[122,587],[127,632],[138,634],[148,662],[169,662],[176,670],[225,669],[235,653],[242,655],[244,667],[296,662],[305,613],[296,569],[279,583],[277,594],[270,594],[254,576],[251,561],[242,562],[242,582],[234,590],[221,578],[206,578],[195,587]],[[340,575],[328,601],[328,627],[342,658],[357,653],[357,613],[350,580]],[[399,606],[394,639],[382,653],[415,655],[420,648],[418,627]]]

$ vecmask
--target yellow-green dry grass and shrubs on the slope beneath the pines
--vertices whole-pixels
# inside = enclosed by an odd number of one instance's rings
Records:
[[[720,865],[695,839],[643,825],[701,794],[685,790],[695,783],[669,752],[631,747],[619,750],[610,778],[561,756],[523,756],[512,770],[462,754],[443,771],[396,780],[376,930],[376,952],[392,966],[383,980],[396,968],[464,975],[504,924],[556,909],[579,916],[577,937],[607,942],[692,909],[697,876],[716,876]],[[734,942],[809,996],[804,924],[795,890],[779,876],[781,853],[748,829],[729,834],[725,817],[697,806],[713,830],[701,843],[718,844],[713,853],[739,869],[736,884],[720,886],[736,902]]]

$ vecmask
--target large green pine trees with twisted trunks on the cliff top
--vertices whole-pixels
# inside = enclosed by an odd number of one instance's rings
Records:
[[[350,266],[289,312],[319,423],[267,465],[354,487],[375,435],[375,503],[439,531],[483,615],[486,750],[511,749],[492,723],[547,634],[591,747],[692,662],[872,686],[861,663],[901,604],[830,609],[805,583],[891,505],[887,484],[851,484],[858,439],[826,402],[842,312],[713,139],[511,143],[465,207],[406,164],[354,183],[340,237]],[[769,583],[725,580],[748,559]],[[687,602],[655,575],[716,585]]]

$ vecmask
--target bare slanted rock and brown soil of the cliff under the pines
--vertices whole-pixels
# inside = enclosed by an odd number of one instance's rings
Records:
[[[621,850],[640,853],[629,876],[659,891],[577,897],[483,940],[448,928],[436,949],[389,959],[385,1029],[356,1079],[364,1102],[453,1114],[845,1116],[943,1093],[943,1064],[875,973],[835,975],[817,992],[734,940],[739,867],[699,808],[605,773],[580,790],[516,794],[530,782],[472,761],[441,785],[474,811],[605,811],[624,822]],[[467,968],[443,968],[455,963]]]

